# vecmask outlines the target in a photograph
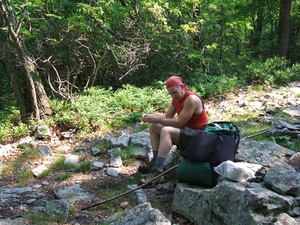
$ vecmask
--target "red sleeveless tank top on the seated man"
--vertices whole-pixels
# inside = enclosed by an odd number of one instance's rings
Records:
[[[199,114],[194,113],[192,115],[192,117],[190,118],[190,120],[184,126],[192,128],[192,129],[196,129],[196,130],[201,130],[202,128],[204,128],[204,125],[208,124],[208,118],[207,118],[206,111],[205,111],[205,108],[204,108],[204,103],[203,103],[203,101],[202,101],[202,99],[199,95],[197,95],[196,93],[194,93],[192,91],[188,91],[180,101],[178,101],[176,99],[173,99],[172,104],[175,106],[176,113],[178,115],[180,115],[180,112],[183,109],[184,102],[187,99],[187,97],[190,96],[190,95],[196,95],[200,98],[200,100],[202,102],[202,109],[203,110]]]

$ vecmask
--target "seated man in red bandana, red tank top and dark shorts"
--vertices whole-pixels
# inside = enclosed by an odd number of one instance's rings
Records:
[[[158,175],[163,171],[168,153],[173,144],[184,150],[197,131],[204,128],[208,118],[204,103],[199,95],[183,84],[182,78],[171,76],[166,88],[172,97],[172,103],[165,115],[144,114],[142,120],[150,123],[150,141],[153,159],[140,166],[141,173],[151,172]],[[175,117],[177,113],[178,117]]]

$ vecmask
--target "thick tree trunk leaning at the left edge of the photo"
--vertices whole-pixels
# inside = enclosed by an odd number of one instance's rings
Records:
[[[7,1],[0,2],[0,62],[10,77],[21,120],[28,123],[30,118],[40,120],[41,115],[52,114],[49,99],[44,90],[34,62],[22,45],[14,12],[7,10]]]

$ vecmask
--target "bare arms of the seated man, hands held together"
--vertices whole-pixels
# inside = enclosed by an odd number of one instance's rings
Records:
[[[175,115],[175,107],[171,105],[165,116],[145,114],[143,116],[143,121],[148,123],[160,123],[165,126],[181,128],[189,121],[193,113],[199,107],[201,107],[200,111],[202,111],[202,103],[200,98],[198,98],[196,95],[190,95],[184,102],[183,109],[177,119],[168,117],[168,113],[170,113],[169,115],[172,115],[172,113],[174,113],[172,117]]]

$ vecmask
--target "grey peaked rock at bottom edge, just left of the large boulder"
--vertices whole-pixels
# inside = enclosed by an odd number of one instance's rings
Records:
[[[171,222],[149,202],[125,210],[124,216],[111,225],[171,225]]]

